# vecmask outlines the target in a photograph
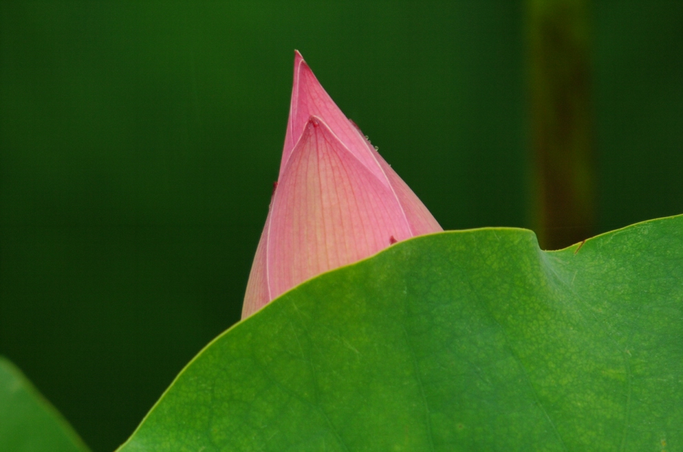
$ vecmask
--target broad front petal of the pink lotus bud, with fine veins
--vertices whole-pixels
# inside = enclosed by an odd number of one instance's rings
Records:
[[[318,117],[311,117],[279,181],[268,233],[277,297],[319,273],[412,236],[401,205]]]

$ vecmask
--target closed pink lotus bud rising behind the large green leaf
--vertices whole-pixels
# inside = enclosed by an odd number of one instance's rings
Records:
[[[299,52],[278,179],[242,318],[324,271],[443,230],[336,106]]]

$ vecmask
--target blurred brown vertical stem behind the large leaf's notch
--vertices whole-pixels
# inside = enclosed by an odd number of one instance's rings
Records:
[[[534,226],[544,249],[594,234],[588,0],[528,0]]]

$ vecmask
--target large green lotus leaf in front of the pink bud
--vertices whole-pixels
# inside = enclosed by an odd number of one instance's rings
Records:
[[[683,216],[400,242],[210,343],[120,449],[683,450]]]

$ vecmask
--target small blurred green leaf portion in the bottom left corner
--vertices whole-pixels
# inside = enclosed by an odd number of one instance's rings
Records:
[[[0,451],[89,451],[61,414],[4,357],[0,357]]]

